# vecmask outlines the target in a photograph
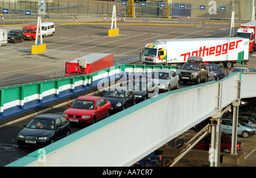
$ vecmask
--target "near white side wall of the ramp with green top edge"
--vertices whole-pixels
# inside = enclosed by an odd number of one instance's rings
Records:
[[[240,73],[234,73],[220,81],[161,93],[6,166],[130,166],[238,96],[255,97],[255,77],[256,73],[242,73],[240,80]]]

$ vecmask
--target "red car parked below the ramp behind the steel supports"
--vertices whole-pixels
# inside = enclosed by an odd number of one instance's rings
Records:
[[[231,136],[222,134],[221,135],[221,145],[220,145],[220,151],[221,152],[231,152]],[[196,144],[195,147],[193,147],[194,150],[209,150],[210,148],[210,135],[206,136],[202,140],[200,140],[199,143]],[[241,151],[243,148],[242,140],[237,139],[237,151]]]

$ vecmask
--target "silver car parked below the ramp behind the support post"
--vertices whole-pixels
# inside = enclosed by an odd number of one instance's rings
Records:
[[[221,131],[232,134],[232,124],[233,119],[232,118],[222,118],[221,119]],[[242,123],[238,121],[237,123],[237,135],[241,135],[243,138],[247,138],[249,135],[255,135],[255,127],[246,125],[245,123]]]

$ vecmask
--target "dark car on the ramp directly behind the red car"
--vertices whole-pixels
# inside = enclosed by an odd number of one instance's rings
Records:
[[[110,101],[111,111],[118,112],[127,107],[135,105],[135,97],[133,91],[129,91],[125,87],[110,88],[102,96],[105,100]]]

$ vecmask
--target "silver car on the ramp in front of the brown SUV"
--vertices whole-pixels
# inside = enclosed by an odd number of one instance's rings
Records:
[[[180,78],[175,71],[168,69],[157,69],[152,73],[151,80],[158,84],[159,90],[170,91],[178,89]]]

